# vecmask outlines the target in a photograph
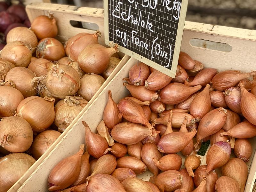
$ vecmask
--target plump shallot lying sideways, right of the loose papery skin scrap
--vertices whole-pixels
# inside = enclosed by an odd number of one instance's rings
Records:
[[[111,131],[111,136],[119,143],[132,145],[143,140],[145,137],[157,136],[157,131],[147,129],[140,124],[130,122],[119,123]]]

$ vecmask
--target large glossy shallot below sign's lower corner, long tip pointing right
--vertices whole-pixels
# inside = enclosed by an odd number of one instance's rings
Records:
[[[165,104],[175,105],[184,101],[191,94],[197,92],[201,88],[201,85],[188,87],[181,83],[170,83],[161,90],[159,94],[160,101]]]

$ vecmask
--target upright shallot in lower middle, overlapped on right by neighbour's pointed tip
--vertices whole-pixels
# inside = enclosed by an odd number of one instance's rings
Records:
[[[142,146],[142,161],[147,165],[148,170],[152,172],[155,177],[158,175],[159,169],[154,163],[153,158],[160,159],[162,156],[163,155],[158,151],[156,144],[148,142]]]

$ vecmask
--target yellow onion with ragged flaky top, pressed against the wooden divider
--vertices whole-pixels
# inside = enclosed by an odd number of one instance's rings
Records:
[[[58,131],[64,132],[87,103],[79,96],[66,96],[65,99],[60,100],[54,107],[54,124],[58,127]]]

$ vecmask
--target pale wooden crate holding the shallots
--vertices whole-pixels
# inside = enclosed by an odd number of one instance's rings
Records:
[[[208,47],[216,48],[216,46],[209,46],[208,43],[204,44],[206,48],[194,47],[189,43],[192,38],[230,44],[232,51],[213,51],[208,49]],[[255,45],[256,31],[186,22],[181,50],[188,52],[193,59],[203,62],[207,68],[217,68],[219,71],[226,69],[251,71],[251,69],[256,69]],[[47,191],[48,176],[52,168],[63,158],[75,154],[79,149],[79,145],[84,143],[85,133],[82,121],[86,121],[91,130],[97,132],[96,127],[102,120],[104,107],[108,101],[108,90],[112,91],[112,97],[115,102],[118,102],[129,94],[129,91],[123,87],[122,79],[128,76],[130,68],[136,63],[137,60],[131,58],[124,65],[103,91],[100,92],[97,99],[85,110],[84,114],[76,119],[76,124],[61,138],[61,141],[44,158],[42,164],[29,176],[28,180],[18,189],[18,192]],[[251,143],[253,146],[253,155],[249,162],[247,162],[249,175],[245,192],[252,192],[256,177],[255,138],[251,139]],[[201,160],[202,164],[205,164],[205,156],[201,156]],[[146,172],[138,177],[148,180],[150,175],[152,175],[150,172]]]

